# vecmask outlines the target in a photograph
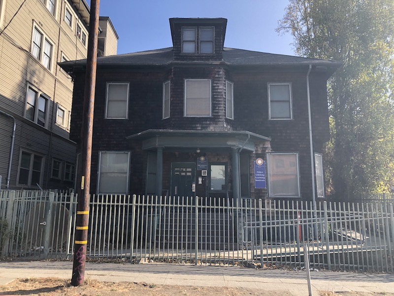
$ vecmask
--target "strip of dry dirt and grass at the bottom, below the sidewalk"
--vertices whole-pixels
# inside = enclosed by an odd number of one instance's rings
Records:
[[[259,289],[230,288],[230,287],[195,287],[153,285],[146,283],[99,282],[87,280],[84,285],[73,287],[69,280],[59,278],[25,278],[17,279],[7,285],[0,286],[0,295],[39,295],[39,296],[283,296],[291,295],[283,291],[273,292]],[[333,293],[320,292],[321,296],[394,296],[386,293]]]

